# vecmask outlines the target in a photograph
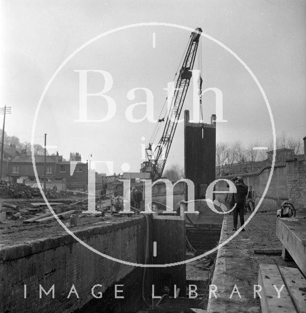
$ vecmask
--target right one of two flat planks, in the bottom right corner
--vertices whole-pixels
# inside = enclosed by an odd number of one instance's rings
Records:
[[[306,279],[298,268],[280,267],[285,286],[298,313],[306,313]],[[305,289],[304,289],[305,288]]]

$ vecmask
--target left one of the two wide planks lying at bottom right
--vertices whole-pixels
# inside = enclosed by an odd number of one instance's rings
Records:
[[[260,264],[258,274],[258,284],[262,287],[261,291],[261,307],[262,313],[296,313],[290,295],[284,286],[280,293],[280,298],[277,297],[277,291],[284,285],[283,278],[274,264]]]

